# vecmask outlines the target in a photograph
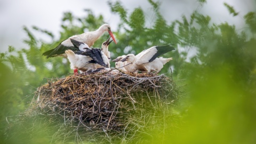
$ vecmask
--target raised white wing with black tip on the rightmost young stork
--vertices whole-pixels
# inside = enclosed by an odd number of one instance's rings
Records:
[[[155,60],[157,57],[159,57],[160,55],[172,50],[175,50],[172,45],[150,47],[149,49],[144,50],[141,53],[137,54],[139,56],[136,55],[137,57],[136,64],[142,65],[144,63],[151,62]]]

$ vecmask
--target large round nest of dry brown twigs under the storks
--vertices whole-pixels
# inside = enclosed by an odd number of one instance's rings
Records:
[[[53,141],[75,137],[76,141],[129,143],[141,139],[139,134],[148,137],[150,131],[166,129],[162,114],[171,113],[177,98],[177,86],[163,74],[84,73],[49,79],[38,87],[25,115],[55,126]]]

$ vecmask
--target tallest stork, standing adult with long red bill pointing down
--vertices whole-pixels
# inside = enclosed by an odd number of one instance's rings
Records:
[[[108,24],[104,24],[100,26],[99,29],[95,31],[88,31],[86,33],[83,33],[81,35],[74,35],[69,37],[68,39],[62,41],[55,49],[46,51],[43,53],[43,55],[46,56],[46,58],[50,57],[56,57],[56,56],[62,56],[62,57],[67,57],[65,54],[66,50],[72,50],[72,51],[79,51],[77,47],[74,47],[73,43],[71,42],[70,39],[74,39],[75,41],[82,42],[88,47],[91,47],[94,42],[101,36],[105,31],[108,31],[109,35],[113,38],[114,42],[116,43],[115,37],[111,32],[110,26]]]

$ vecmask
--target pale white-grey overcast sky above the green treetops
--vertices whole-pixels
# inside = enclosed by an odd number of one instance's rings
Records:
[[[154,1],[154,0],[153,0]],[[116,2],[113,0],[111,2]],[[196,0],[160,0],[160,12],[167,21],[180,19],[181,15],[190,15],[198,9]],[[234,6],[239,12],[238,17],[232,17],[223,3]],[[125,9],[131,12],[135,7],[142,7],[146,14],[148,23],[154,19],[150,4],[147,0],[121,1]],[[199,12],[210,15],[213,22],[229,22],[243,28],[243,16],[249,11],[255,11],[256,2],[253,0],[208,0]],[[8,45],[17,49],[28,47],[23,44],[23,39],[27,38],[22,27],[37,26],[51,31],[56,37],[59,36],[61,29],[61,18],[63,12],[72,12],[76,17],[86,13],[84,9],[91,9],[95,15],[103,14],[105,22],[109,23],[115,31],[118,25],[118,15],[110,12],[107,1],[103,0],[0,0],[0,52],[5,52]],[[44,38],[41,33],[35,34],[37,37]],[[46,39],[47,40],[47,39]]]

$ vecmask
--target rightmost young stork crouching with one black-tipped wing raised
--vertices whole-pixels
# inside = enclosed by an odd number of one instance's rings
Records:
[[[140,52],[136,56],[134,54],[127,54],[126,57],[121,61],[122,62],[127,61],[128,64],[131,63],[130,66],[127,65],[124,67],[127,71],[140,70],[140,71],[149,72],[154,69],[160,70],[163,68],[162,65],[164,65],[167,61],[170,61],[172,58],[164,59],[164,58],[157,58],[157,57],[172,50],[175,50],[172,45],[153,46],[147,50]]]

